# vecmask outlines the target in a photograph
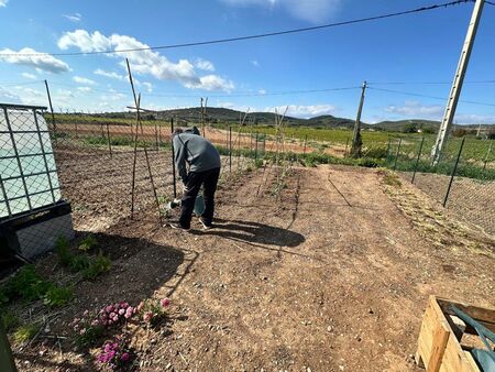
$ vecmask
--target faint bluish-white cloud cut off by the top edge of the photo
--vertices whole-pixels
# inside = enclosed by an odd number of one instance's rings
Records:
[[[328,20],[339,9],[342,0],[221,0],[232,7],[262,7],[271,11],[283,9],[292,17],[319,23]]]

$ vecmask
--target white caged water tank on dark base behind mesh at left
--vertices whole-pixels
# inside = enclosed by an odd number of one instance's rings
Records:
[[[0,105],[0,253],[24,260],[74,234],[43,109]]]

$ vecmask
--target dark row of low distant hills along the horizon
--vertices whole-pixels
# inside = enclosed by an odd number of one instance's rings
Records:
[[[132,112],[113,112],[108,113],[108,116],[122,118],[122,117],[134,117]],[[201,120],[201,108],[193,107],[186,109],[173,109],[173,110],[164,110],[160,112],[145,112],[143,113],[144,118],[147,119],[170,119],[174,118],[178,121],[185,122],[200,122]],[[240,122],[240,118],[244,117],[244,112],[218,108],[218,107],[208,107],[206,110],[206,121],[210,124],[238,124]],[[273,112],[250,112],[248,119],[245,121],[248,124],[257,124],[257,125],[274,125],[275,124],[275,113]],[[314,127],[314,128],[354,128],[354,120],[346,118],[338,118],[331,114],[318,116],[309,119],[300,119],[294,117],[285,117],[284,122],[288,125],[305,125],[305,127]],[[391,131],[391,132],[404,132],[405,130],[410,130],[413,128],[427,130],[430,132],[437,132],[440,122],[433,120],[424,120],[424,119],[408,119],[408,120],[397,120],[397,121],[382,121],[375,124],[362,123],[363,129],[369,130],[382,130],[382,131]],[[475,130],[477,129],[477,124],[470,125],[454,125],[455,128],[464,128]],[[483,128],[495,130],[495,124],[483,125]]]

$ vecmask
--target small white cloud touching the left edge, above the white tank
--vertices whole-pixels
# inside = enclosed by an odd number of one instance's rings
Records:
[[[24,47],[19,52],[4,48],[0,51],[0,61],[15,65],[30,66],[54,74],[61,74],[69,70],[69,66],[65,62],[48,54],[38,53],[37,55],[26,55],[33,53],[38,52],[31,47]]]

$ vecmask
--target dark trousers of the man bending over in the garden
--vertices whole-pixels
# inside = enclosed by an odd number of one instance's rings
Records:
[[[217,190],[220,168],[213,168],[205,172],[189,172],[186,180],[186,192],[182,200],[180,226],[190,228],[193,210],[195,209],[196,197],[202,185],[202,196],[205,198],[205,211],[201,216],[206,225],[211,225],[215,212],[215,192]]]

